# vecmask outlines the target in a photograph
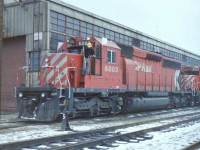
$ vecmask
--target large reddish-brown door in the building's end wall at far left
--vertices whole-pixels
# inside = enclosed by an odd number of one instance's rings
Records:
[[[18,69],[26,64],[25,41],[25,36],[3,39],[1,110],[16,110]]]

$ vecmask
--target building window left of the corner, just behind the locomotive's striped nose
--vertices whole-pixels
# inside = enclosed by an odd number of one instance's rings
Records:
[[[40,69],[40,52],[29,52],[30,69],[31,71],[39,71]]]

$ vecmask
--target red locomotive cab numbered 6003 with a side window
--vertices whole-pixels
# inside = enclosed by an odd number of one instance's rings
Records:
[[[88,43],[92,43],[94,56],[90,57],[90,72],[86,73],[84,52]],[[114,42],[96,37],[76,37],[71,38],[59,51],[66,53],[71,62],[68,64],[68,76],[72,88],[118,89],[122,84],[120,48]],[[79,65],[75,65],[77,63]]]

